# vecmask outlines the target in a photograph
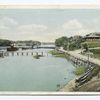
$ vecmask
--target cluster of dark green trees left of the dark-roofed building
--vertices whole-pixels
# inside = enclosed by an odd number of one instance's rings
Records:
[[[84,42],[82,36],[73,36],[73,37],[60,37],[55,40],[56,47],[63,47],[65,50],[75,50],[81,48],[81,43]]]

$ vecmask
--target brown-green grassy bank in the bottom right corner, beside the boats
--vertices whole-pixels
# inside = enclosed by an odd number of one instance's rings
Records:
[[[92,77],[83,84],[78,91],[82,92],[100,92],[100,66],[96,65],[92,70]]]

